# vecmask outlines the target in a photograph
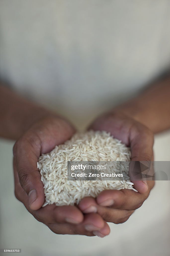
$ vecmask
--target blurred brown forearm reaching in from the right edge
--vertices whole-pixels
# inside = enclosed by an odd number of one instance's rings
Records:
[[[117,106],[123,112],[146,125],[154,133],[170,128],[170,77],[152,84],[138,97]]]

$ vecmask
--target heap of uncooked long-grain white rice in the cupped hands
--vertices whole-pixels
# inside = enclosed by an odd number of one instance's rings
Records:
[[[104,189],[133,189],[127,180],[67,180],[67,161],[130,161],[130,149],[105,131],[76,133],[37,162],[47,204],[74,205]],[[126,168],[125,175],[128,175]],[[135,190],[136,191],[136,190]]]

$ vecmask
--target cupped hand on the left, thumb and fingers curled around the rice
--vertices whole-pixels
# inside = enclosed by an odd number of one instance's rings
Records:
[[[51,116],[36,122],[23,134],[13,149],[15,196],[54,233],[94,236],[100,231],[100,236],[104,237],[110,228],[96,212],[83,215],[76,206],[42,207],[45,195],[36,164],[38,157],[68,140],[73,133],[74,128],[66,120]]]

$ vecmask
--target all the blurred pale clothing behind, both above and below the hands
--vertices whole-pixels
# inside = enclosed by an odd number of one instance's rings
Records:
[[[169,13],[168,0],[1,0],[0,76],[82,129],[168,68]],[[157,136],[155,160],[170,160],[169,143],[169,133]],[[22,248],[22,255],[169,255],[169,182],[157,182],[144,205],[126,223],[111,224],[103,240],[56,235],[15,199],[12,143],[0,147],[1,248]]]

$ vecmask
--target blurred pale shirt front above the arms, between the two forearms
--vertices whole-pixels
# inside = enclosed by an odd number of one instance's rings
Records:
[[[2,0],[0,75],[76,123],[169,65],[170,2]]]

